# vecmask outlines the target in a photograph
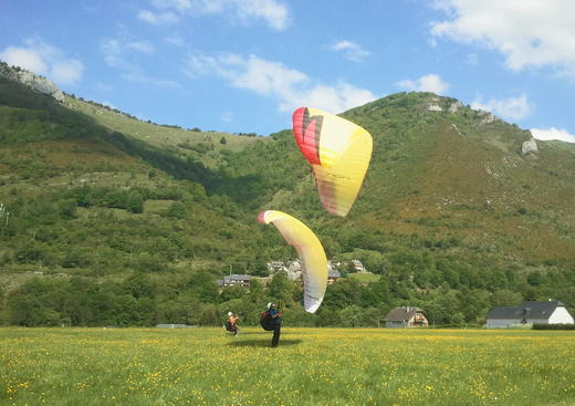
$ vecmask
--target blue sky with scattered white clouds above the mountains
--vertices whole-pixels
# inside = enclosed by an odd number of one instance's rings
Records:
[[[268,135],[430,91],[575,143],[573,0],[7,0],[0,27],[0,60],[158,124]]]

